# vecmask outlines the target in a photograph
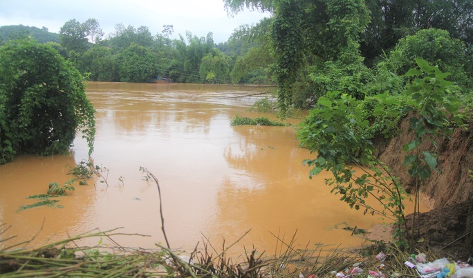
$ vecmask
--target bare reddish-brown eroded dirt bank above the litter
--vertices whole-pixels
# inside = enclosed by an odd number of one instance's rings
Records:
[[[414,180],[402,165],[405,157],[402,146],[414,139],[412,135],[405,135],[408,128],[409,120],[405,119],[400,125],[401,135],[380,147],[380,159],[411,192]],[[473,128],[469,125],[466,130],[455,130],[450,139],[439,139],[436,152],[441,173],[433,172],[420,188],[434,204],[433,210],[420,215],[419,238],[423,239],[420,246],[452,259],[467,259],[473,255],[471,222],[468,222],[470,230],[467,229],[467,221],[473,221],[472,136]],[[425,143],[422,148],[435,150],[432,143]]]

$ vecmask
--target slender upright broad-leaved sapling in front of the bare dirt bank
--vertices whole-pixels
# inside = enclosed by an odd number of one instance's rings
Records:
[[[407,166],[409,176],[414,178],[414,217],[411,230],[411,241],[414,242],[414,228],[418,226],[416,217],[419,213],[420,186],[432,175],[432,171],[440,172],[437,168],[436,153],[423,150],[421,145],[429,141],[434,149],[437,148],[435,139],[452,135],[454,125],[461,126],[458,116],[460,101],[453,95],[455,88],[452,81],[445,80],[450,74],[441,72],[437,67],[430,66],[427,61],[416,58],[418,69],[410,69],[406,77],[411,78],[405,95],[409,97],[402,112],[409,114],[408,133],[414,135],[409,143],[403,146],[406,153],[404,166]],[[384,95],[382,102],[376,108],[378,114],[389,112],[384,103],[392,97]],[[416,225],[417,224],[417,225]]]

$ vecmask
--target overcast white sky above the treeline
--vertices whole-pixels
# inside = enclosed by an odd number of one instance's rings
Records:
[[[174,26],[174,38],[189,30],[197,37],[214,34],[214,42],[227,41],[242,24],[257,23],[269,14],[244,10],[233,17],[223,8],[223,0],[0,0],[0,26],[19,25],[48,28],[59,32],[66,21],[83,23],[97,19],[105,35],[115,25],[147,26],[155,35],[163,25]]]

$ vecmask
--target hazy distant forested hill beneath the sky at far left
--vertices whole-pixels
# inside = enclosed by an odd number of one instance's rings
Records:
[[[12,25],[0,27],[0,42],[9,41],[10,39],[19,39],[31,36],[39,43],[53,41],[59,43],[59,34],[51,33],[48,28],[37,28],[34,26]]]

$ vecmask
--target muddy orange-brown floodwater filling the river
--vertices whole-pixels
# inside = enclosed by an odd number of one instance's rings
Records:
[[[89,230],[120,228],[121,246],[154,248],[163,243],[158,190],[142,179],[140,166],[159,179],[165,230],[171,248],[193,250],[206,237],[216,248],[225,239],[235,254],[254,246],[274,254],[275,236],[309,248],[355,246],[364,239],[346,226],[370,228],[380,217],[362,215],[331,195],[322,174],[308,179],[293,127],[230,126],[242,117],[272,117],[248,108],[265,88],[196,84],[90,82],[87,95],[97,110],[93,160],[108,170],[107,182],[75,183],[60,197],[63,208],[39,207],[30,195],[45,194],[50,182],[65,183],[68,167],[87,158],[77,138],[71,155],[16,157],[0,166],[0,247],[27,241],[39,246]],[[272,117],[273,118],[273,117]],[[297,123],[297,120],[291,120]],[[103,172],[107,175],[106,172]],[[121,179],[121,181],[120,181]],[[422,210],[427,208],[423,207]],[[297,233],[296,233],[297,232]],[[87,239],[98,244],[99,239]],[[111,244],[108,239],[104,244]]]

